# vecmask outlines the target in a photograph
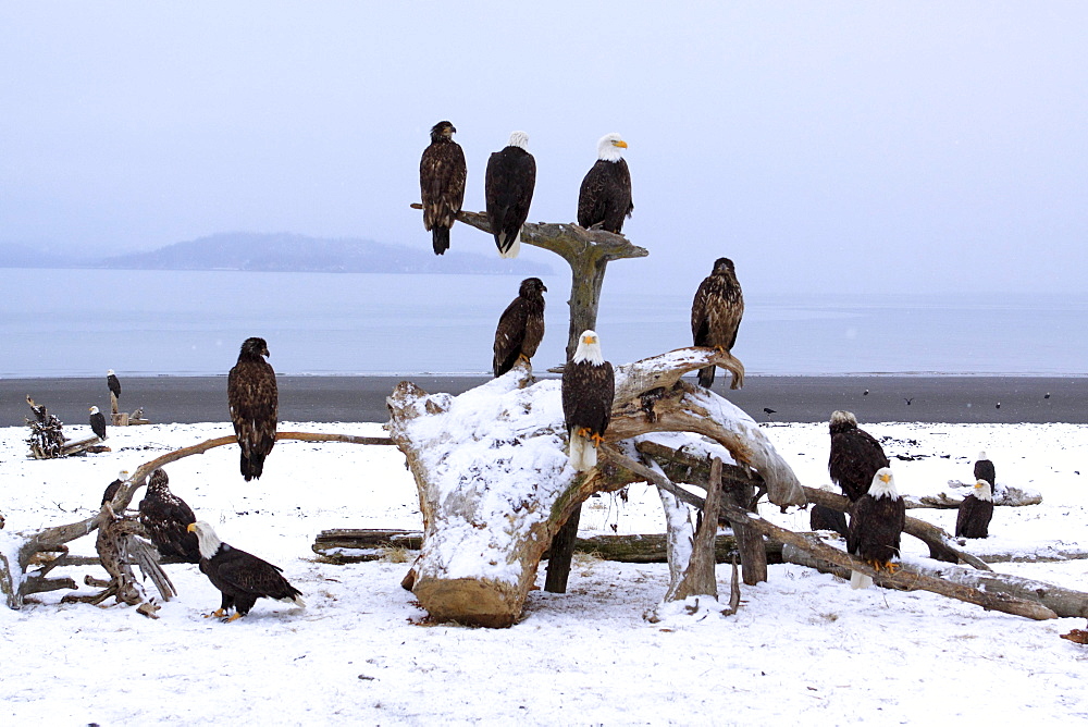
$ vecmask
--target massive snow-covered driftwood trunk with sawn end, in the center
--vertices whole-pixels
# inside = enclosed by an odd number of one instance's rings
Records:
[[[693,445],[707,436],[758,471],[771,502],[804,503],[796,477],[758,424],[680,381],[720,360],[710,349],[690,348],[618,367],[605,441],[635,455],[623,441],[640,434],[688,432]],[[607,457],[597,469],[576,472],[565,454],[560,382],[534,381],[523,364],[457,397],[401,382],[388,406],[391,435],[408,458],[423,513],[423,547],[405,586],[438,620],[514,624],[542,554],[574,508],[594,492],[645,479]]]

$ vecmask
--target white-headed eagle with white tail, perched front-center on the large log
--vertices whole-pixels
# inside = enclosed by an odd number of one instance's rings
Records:
[[[570,464],[579,472],[597,464],[597,445],[611,419],[616,375],[601,355],[594,331],[582,331],[573,358],[562,369],[562,417],[570,432]]]

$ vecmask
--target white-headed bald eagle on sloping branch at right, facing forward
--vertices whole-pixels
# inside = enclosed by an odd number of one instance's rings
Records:
[[[873,477],[869,491],[854,503],[846,534],[846,550],[876,570],[895,572],[891,559],[899,556],[899,541],[906,526],[906,503],[895,490],[891,468],[881,467]],[[856,570],[851,588],[868,588],[873,579]]]

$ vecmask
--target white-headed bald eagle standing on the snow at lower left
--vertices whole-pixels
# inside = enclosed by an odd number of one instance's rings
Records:
[[[197,535],[200,570],[223,594],[219,609],[209,616],[222,618],[233,607],[235,614],[226,620],[237,620],[249,613],[257,599],[275,599],[289,601],[296,606],[306,605],[300,597],[302,592],[280,575],[283,568],[227,545],[202,520],[190,523],[187,530]]]

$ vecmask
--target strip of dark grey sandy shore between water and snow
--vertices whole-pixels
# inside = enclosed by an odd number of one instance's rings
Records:
[[[279,380],[280,419],[385,421],[385,397],[403,379],[428,392],[453,394],[486,381],[472,375],[283,375]],[[728,391],[721,379],[719,375],[715,391],[756,421],[826,421],[834,409],[849,409],[863,422],[1088,423],[1088,378],[752,375],[739,392]],[[227,421],[225,375],[127,377],[122,384],[121,409],[132,411],[141,406],[153,423]],[[863,394],[866,390],[867,395]],[[1048,393],[1050,398],[1044,398]],[[29,415],[27,394],[67,423],[86,423],[91,405],[109,411],[104,377],[2,379],[0,426],[24,423]],[[766,415],[764,407],[776,414]]]

